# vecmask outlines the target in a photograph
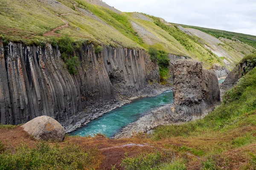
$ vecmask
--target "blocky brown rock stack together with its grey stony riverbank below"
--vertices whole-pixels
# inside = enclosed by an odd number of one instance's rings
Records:
[[[130,137],[159,125],[188,122],[205,116],[220,102],[218,79],[201,62],[177,60],[173,71],[174,103],[157,108],[125,127],[114,138]]]

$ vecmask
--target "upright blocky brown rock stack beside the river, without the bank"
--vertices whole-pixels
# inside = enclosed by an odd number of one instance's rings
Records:
[[[201,62],[180,60],[174,70],[174,107],[176,113],[202,116],[220,101],[218,79],[202,68]]]

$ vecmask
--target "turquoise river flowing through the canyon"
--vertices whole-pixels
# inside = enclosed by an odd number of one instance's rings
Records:
[[[220,84],[223,81],[224,79],[221,79],[218,82]],[[163,92],[158,96],[140,98],[129,104],[123,105],[120,108],[105,113],[98,119],[94,119],[87,125],[70,133],[70,135],[94,136],[95,134],[101,133],[108,137],[112,137],[115,133],[122,130],[123,127],[127,126],[129,123],[135,122],[146,112],[172,102],[172,91]]]

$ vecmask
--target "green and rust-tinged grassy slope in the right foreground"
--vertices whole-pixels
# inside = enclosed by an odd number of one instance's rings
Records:
[[[158,127],[153,138],[179,154],[189,152],[199,156],[201,161],[198,166],[210,164],[212,169],[228,169],[228,164],[237,163],[240,168],[248,169],[255,167],[255,162],[250,161],[253,159],[251,153],[255,154],[255,133],[256,68],[242,77],[227,92],[224,103],[204,119],[180,126]],[[173,146],[173,143],[181,143],[182,146]],[[239,150],[239,153],[235,150]],[[235,159],[232,154],[241,157]],[[178,158],[183,159],[186,158]],[[236,162],[239,159],[242,162]],[[186,160],[188,167],[192,164],[196,164],[195,160]]]

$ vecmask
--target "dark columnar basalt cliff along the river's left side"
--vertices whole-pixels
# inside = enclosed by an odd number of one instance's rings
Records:
[[[12,42],[3,47],[0,40],[0,54],[1,124],[47,115],[67,126],[83,118],[85,113],[77,113],[87,106],[113,104],[120,91],[134,96],[148,79],[159,80],[158,67],[141,50],[104,47],[95,54],[93,45],[83,46],[74,51],[81,62],[75,76],[49,44],[44,49]]]

